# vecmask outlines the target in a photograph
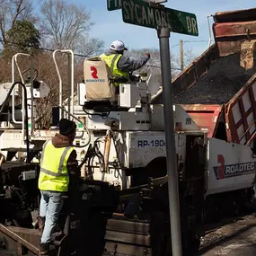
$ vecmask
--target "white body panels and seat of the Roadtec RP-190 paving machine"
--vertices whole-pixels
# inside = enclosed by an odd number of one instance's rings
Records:
[[[166,156],[163,121],[163,105],[151,105],[151,96],[159,89],[159,82],[153,75],[142,77],[137,83],[119,85],[119,94],[110,83],[108,69],[99,58],[84,61],[84,83],[77,84],[77,102],[74,103],[73,116],[77,124],[75,150],[79,163],[84,160],[89,145],[88,128],[91,145],[95,143],[100,152],[106,151],[106,137],[110,135],[110,148],[107,154],[108,166],[102,170],[102,163],[95,158],[92,163],[93,179],[118,183],[121,188],[130,186],[130,179],[124,170],[143,168],[156,158]],[[0,92],[8,93],[10,84],[1,84]],[[6,87],[7,86],[7,87]],[[31,87],[27,84],[29,105],[31,104]],[[33,90],[33,98],[41,99],[49,95],[49,87],[40,81],[40,87]],[[1,95],[0,102],[4,102]],[[116,102],[116,110],[95,110],[86,108],[88,103],[101,106],[105,102]],[[36,101],[33,101],[36,108]],[[67,110],[67,106],[64,107]],[[84,111],[85,110],[85,111]],[[250,146],[227,143],[224,140],[207,137],[207,130],[201,129],[190,115],[180,106],[173,106],[175,146],[178,166],[183,166],[187,157],[188,136],[203,137],[206,146],[205,179],[206,194],[221,193],[229,190],[241,190],[251,186],[256,169],[255,156]],[[22,110],[23,112],[23,110]],[[16,115],[16,114],[15,114]],[[33,117],[31,112],[29,118]],[[75,117],[75,118],[74,118]],[[33,117],[36,119],[36,117]],[[37,149],[53,137],[57,128],[34,129],[31,148]],[[25,149],[22,125],[1,121],[0,147],[7,154],[8,149]],[[17,158],[17,155],[15,155]],[[182,165],[183,164],[183,165]],[[85,168],[86,169],[86,168]],[[84,176],[86,170],[84,171]]]

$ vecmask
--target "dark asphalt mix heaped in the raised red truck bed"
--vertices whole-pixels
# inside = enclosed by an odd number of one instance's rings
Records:
[[[213,62],[207,74],[186,92],[176,95],[174,104],[223,104],[229,102],[235,93],[256,73],[254,67],[245,71],[240,66],[240,53],[220,57]]]

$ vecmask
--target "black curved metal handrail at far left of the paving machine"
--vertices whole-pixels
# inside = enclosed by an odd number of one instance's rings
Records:
[[[16,84],[22,85],[22,88],[23,88],[23,95],[24,95],[24,97],[23,97],[23,99],[24,99],[24,108],[23,108],[23,110],[25,110],[25,117],[23,117],[23,115],[22,115],[22,119],[24,118],[26,120],[26,144],[27,144],[26,145],[26,147],[27,147],[26,163],[29,163],[29,159],[30,159],[29,116],[28,116],[28,103],[27,103],[28,102],[28,97],[27,97],[27,90],[26,90],[25,84],[22,84],[22,82],[15,82],[15,83],[13,83],[13,85],[11,86],[9,92],[6,95],[4,103],[1,106],[0,116],[3,114],[4,107],[7,104],[7,102],[9,102],[10,95],[13,92],[13,88],[14,88],[14,86]]]

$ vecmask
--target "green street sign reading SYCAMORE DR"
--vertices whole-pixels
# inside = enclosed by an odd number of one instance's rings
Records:
[[[197,17],[193,13],[185,13],[163,5],[155,5],[141,0],[122,0],[123,21],[137,26],[161,29],[199,36]]]

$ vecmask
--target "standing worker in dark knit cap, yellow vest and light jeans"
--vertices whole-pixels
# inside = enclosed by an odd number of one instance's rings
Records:
[[[40,255],[49,255],[50,237],[68,191],[69,174],[77,168],[76,151],[72,146],[75,129],[74,121],[60,119],[59,134],[49,139],[42,148],[39,177]]]

